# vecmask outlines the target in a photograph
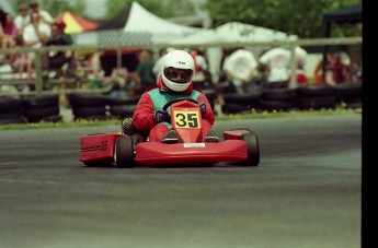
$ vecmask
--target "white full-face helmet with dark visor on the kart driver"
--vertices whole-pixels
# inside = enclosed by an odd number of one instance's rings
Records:
[[[164,56],[162,80],[174,92],[185,91],[192,83],[194,60],[183,50],[173,50]]]

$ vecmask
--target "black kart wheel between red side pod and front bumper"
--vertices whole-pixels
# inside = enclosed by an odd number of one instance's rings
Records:
[[[119,137],[115,141],[114,162],[117,168],[131,168],[135,166],[134,142],[131,137]]]

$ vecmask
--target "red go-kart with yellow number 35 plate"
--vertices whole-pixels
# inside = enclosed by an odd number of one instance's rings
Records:
[[[87,166],[113,164],[115,167],[217,163],[259,165],[259,139],[250,129],[231,129],[222,133],[224,140],[204,142],[202,114],[196,101],[171,101],[163,109],[170,113],[169,119],[179,142],[152,142],[148,133],[138,130],[128,134],[125,131],[88,134],[80,138],[79,161]]]

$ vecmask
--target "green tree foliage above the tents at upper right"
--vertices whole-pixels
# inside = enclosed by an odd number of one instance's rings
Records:
[[[301,38],[323,36],[323,14],[357,0],[207,0],[214,26],[236,21],[296,34]],[[357,33],[354,29],[350,34]],[[339,29],[339,35],[340,33]]]

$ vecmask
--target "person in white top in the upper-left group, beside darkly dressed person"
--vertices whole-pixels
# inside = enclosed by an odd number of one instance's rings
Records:
[[[47,42],[48,37],[51,35],[51,28],[46,23],[42,22],[39,14],[36,11],[31,13],[31,23],[25,26],[22,34],[24,40],[24,46],[26,47],[41,47]],[[34,69],[35,54],[27,54],[27,79],[33,80],[33,69]]]

